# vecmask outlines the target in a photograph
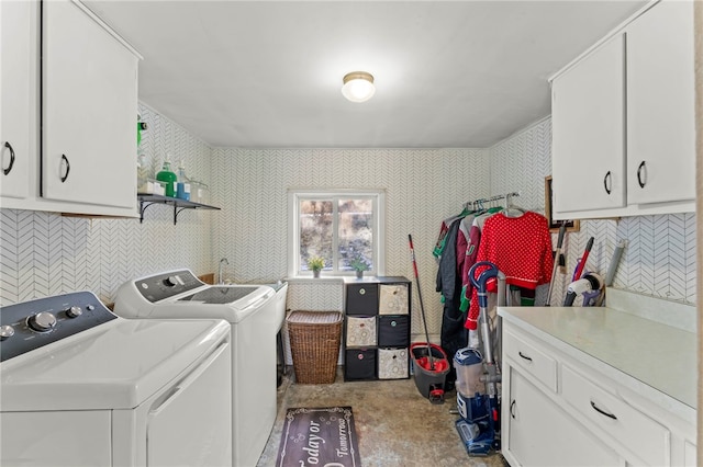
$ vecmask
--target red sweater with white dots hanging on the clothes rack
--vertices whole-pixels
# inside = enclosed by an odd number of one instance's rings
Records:
[[[534,291],[538,285],[549,283],[554,259],[547,219],[531,210],[520,217],[498,213],[487,218],[476,261],[495,264],[505,274],[509,285]],[[477,267],[475,275],[478,277],[484,269]],[[477,329],[478,317],[478,291],[473,289],[465,327]]]

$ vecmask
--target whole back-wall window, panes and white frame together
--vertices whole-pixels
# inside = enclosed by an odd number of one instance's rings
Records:
[[[383,204],[382,191],[290,191],[289,275],[312,275],[311,257],[322,257],[332,275],[354,274],[353,259],[381,275]]]

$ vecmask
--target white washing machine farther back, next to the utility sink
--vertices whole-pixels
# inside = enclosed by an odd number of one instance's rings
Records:
[[[115,314],[136,319],[220,318],[232,334],[233,465],[256,466],[274,428],[276,292],[266,285],[209,285],[189,270],[123,284]]]

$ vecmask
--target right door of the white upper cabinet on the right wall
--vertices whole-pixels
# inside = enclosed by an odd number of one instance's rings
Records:
[[[694,200],[693,2],[657,3],[625,34],[627,202]]]

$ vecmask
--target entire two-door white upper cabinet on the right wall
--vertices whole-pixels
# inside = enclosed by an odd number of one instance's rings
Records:
[[[662,0],[558,72],[554,218],[695,210],[693,2]]]

